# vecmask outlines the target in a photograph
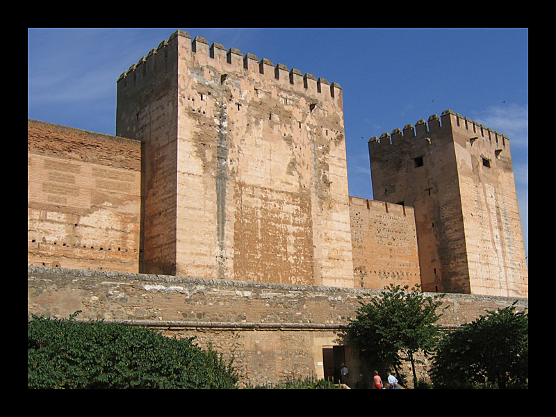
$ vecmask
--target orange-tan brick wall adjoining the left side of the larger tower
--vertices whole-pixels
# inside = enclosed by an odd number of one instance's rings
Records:
[[[138,272],[140,142],[27,121],[28,265]]]

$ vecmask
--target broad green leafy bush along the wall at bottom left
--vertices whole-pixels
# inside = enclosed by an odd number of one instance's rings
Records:
[[[79,313],[79,312],[77,312]],[[31,316],[28,389],[231,389],[230,363],[194,338],[167,338],[145,327]]]

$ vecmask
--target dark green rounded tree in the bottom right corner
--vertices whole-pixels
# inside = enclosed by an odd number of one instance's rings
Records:
[[[514,303],[487,313],[443,338],[431,369],[436,389],[528,386],[527,311],[516,311]]]

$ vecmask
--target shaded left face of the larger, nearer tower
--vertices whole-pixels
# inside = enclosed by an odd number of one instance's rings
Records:
[[[167,41],[117,80],[116,135],[142,142],[140,271],[176,271],[177,47]]]

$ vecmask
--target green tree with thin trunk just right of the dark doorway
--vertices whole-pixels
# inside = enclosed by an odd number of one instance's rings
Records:
[[[390,284],[385,290],[368,302],[359,301],[361,306],[350,320],[347,338],[368,363],[382,363],[398,375],[402,361],[410,361],[416,385],[415,354],[432,354],[439,341],[440,330],[435,323],[441,314],[436,309],[444,295],[425,296],[419,285],[408,291],[407,285]]]

